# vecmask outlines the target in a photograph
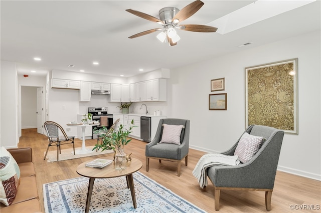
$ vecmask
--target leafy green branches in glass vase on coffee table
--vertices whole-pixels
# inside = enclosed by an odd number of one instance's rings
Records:
[[[133,126],[133,123],[134,120],[132,119],[128,129],[124,128],[124,126],[120,124],[118,128],[116,127],[115,129],[108,131],[108,133],[102,134],[101,144],[95,144],[92,149],[102,149],[101,151],[106,149],[113,149],[115,152],[115,168],[117,170],[126,168],[127,156],[124,152],[124,146],[131,141],[131,139],[127,139],[127,137],[128,134],[131,133],[131,129],[135,127]]]

